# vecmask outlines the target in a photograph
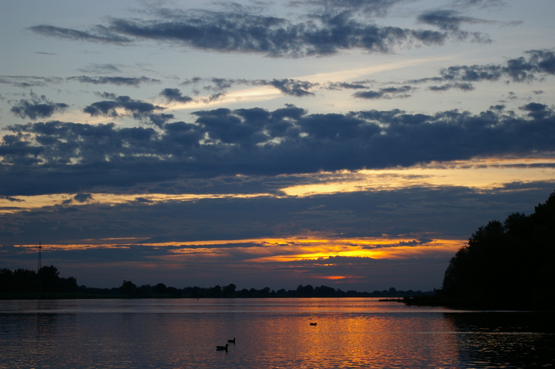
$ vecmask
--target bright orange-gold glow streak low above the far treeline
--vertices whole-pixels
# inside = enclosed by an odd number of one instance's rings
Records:
[[[135,242],[133,242],[135,240]],[[88,242],[90,241],[90,242]],[[108,242],[112,241],[112,242]],[[114,243],[113,241],[121,241]],[[125,242],[127,241],[127,242]],[[131,241],[131,242],[130,242]],[[244,244],[249,246],[245,247]],[[408,244],[414,243],[414,246]],[[427,243],[415,242],[414,238],[363,238],[363,239],[306,239],[292,237],[284,239],[241,239],[219,241],[189,241],[145,243],[139,239],[83,240],[66,245],[43,245],[46,250],[78,251],[94,248],[133,248],[135,245],[153,248],[171,247],[170,255],[149,257],[154,261],[191,262],[237,260],[251,264],[283,263],[287,261],[329,260],[330,257],[362,257],[371,259],[409,259],[414,257],[450,257],[466,241],[436,239]],[[221,245],[237,245],[219,248]],[[191,247],[196,246],[196,247]],[[204,246],[204,247],[203,247]],[[214,247],[210,247],[214,246]],[[22,245],[35,252],[37,245]]]

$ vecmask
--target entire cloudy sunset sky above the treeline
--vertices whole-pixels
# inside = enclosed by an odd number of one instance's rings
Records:
[[[555,189],[553,0],[0,0],[0,267],[441,288]]]

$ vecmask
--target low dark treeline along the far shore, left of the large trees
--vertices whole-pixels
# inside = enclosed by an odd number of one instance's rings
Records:
[[[123,281],[121,286],[111,289],[78,286],[74,277],[62,278],[56,266],[43,266],[39,273],[28,269],[0,268],[0,294],[3,298],[26,297],[33,298],[37,293],[55,293],[53,298],[403,298],[405,296],[432,295],[433,291],[398,291],[391,289],[373,292],[359,292],[355,290],[342,291],[328,286],[313,287],[310,284],[297,289],[278,291],[269,287],[264,289],[237,290],[234,284],[214,287],[176,287],[163,283],[137,286],[133,282]],[[65,295],[64,295],[65,294]],[[16,296],[19,295],[19,296]]]

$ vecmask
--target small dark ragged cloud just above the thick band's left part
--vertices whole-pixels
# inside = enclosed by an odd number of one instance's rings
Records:
[[[153,105],[151,103],[145,103],[144,101],[133,100],[129,96],[114,96],[114,94],[105,93],[102,96],[106,98],[111,98],[110,101],[99,101],[92,103],[83,109],[83,112],[90,114],[91,117],[96,117],[98,115],[103,115],[104,117],[117,118],[121,117],[121,114],[117,112],[117,108],[126,110],[128,114],[131,114],[135,119],[143,119],[149,114],[153,114],[156,110],[164,110],[158,105]]]

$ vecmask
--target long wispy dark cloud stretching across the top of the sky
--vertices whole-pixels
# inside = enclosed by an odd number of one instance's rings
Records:
[[[450,37],[457,40],[470,38],[478,42],[488,41],[480,33],[470,33],[459,28],[461,24],[477,23],[478,20],[455,15],[454,12],[429,12],[421,15],[420,22],[439,28],[439,31],[415,30],[378,26],[371,20],[361,21],[357,17],[355,9],[377,13],[379,9],[386,9],[395,3],[393,1],[329,2],[334,3],[333,11],[325,7],[320,13],[311,14],[309,20],[298,23],[244,10],[185,12],[160,9],[156,19],[112,18],[108,25],[98,25],[85,31],[45,24],[29,29],[42,35],[71,40],[114,44],[156,40],[176,42],[197,49],[263,53],[273,57],[330,55],[350,49],[388,53],[401,45],[443,44]]]

